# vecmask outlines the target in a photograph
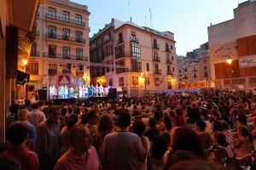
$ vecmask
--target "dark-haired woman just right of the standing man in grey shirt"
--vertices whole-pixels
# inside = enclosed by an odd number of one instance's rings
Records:
[[[60,138],[61,138],[61,155],[67,152],[70,147],[70,141],[68,139],[69,130],[76,124],[78,124],[79,116],[75,113],[71,114],[68,118],[67,127],[61,129]]]

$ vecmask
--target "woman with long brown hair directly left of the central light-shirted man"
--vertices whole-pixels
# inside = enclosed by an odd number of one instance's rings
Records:
[[[113,120],[108,114],[100,116],[97,122],[97,130],[92,140],[92,145],[96,148],[98,153],[101,150],[103,139],[108,133],[113,132],[113,127]]]

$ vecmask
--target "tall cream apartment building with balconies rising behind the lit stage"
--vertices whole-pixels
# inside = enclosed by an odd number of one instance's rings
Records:
[[[89,15],[86,5],[69,0],[40,4],[30,58],[27,65],[19,65],[21,71],[30,74],[19,98],[26,97],[30,85],[49,91],[53,85],[71,87],[90,82]]]

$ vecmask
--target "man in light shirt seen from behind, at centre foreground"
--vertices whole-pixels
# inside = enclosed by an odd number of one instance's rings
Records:
[[[103,169],[131,170],[138,169],[138,162],[144,162],[148,153],[145,140],[128,131],[131,124],[129,112],[119,113],[118,127],[105,136],[100,156]]]

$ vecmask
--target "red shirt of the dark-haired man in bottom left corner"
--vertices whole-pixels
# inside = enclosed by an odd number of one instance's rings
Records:
[[[39,170],[38,156],[24,147],[11,147],[7,155],[15,156],[20,161],[21,170]]]

